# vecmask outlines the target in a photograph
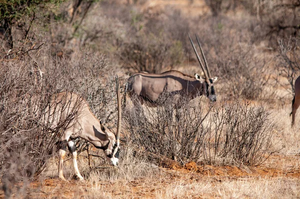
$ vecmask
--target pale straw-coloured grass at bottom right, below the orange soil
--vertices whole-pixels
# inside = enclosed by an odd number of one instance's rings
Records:
[[[202,179],[196,182],[177,181],[159,191],[157,198],[292,198],[299,196],[298,179],[260,178],[224,179],[214,182]]]

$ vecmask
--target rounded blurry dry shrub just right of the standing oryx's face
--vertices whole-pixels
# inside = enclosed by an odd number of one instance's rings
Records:
[[[268,63],[264,57],[255,54],[252,47],[237,46],[228,55],[227,61],[219,59],[219,71],[227,83],[223,91],[231,96],[241,96],[247,99],[267,97],[263,92],[268,83]],[[229,83],[230,82],[230,83]]]

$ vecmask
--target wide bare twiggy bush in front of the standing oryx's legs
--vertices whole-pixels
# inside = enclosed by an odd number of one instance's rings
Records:
[[[226,101],[205,108],[198,99],[182,99],[173,107],[165,95],[156,108],[126,106],[127,139],[180,163],[260,164],[271,146],[270,113],[237,98]]]

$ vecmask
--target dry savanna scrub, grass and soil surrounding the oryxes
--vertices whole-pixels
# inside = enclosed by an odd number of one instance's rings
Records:
[[[0,197],[299,197],[299,13],[299,0],[0,1]],[[79,93],[114,131],[115,75],[124,93],[134,72],[201,73],[187,32],[219,78],[217,101],[127,97],[119,165],[77,139],[85,181],[68,157],[58,180],[58,138],[78,109],[53,127],[51,96]]]

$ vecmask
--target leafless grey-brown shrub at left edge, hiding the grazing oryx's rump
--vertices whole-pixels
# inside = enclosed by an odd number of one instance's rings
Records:
[[[81,100],[75,101],[65,118],[53,120],[59,110],[69,107],[52,103],[52,94],[62,87],[73,90],[73,86],[61,84],[61,76],[45,73],[44,81],[36,63],[26,60],[4,62],[0,76],[1,188],[9,196],[16,181],[30,180],[44,169],[61,131],[78,115]],[[49,111],[52,108],[55,111]]]

